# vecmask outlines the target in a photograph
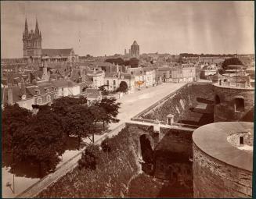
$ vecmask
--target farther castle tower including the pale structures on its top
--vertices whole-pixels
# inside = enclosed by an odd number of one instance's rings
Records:
[[[222,76],[213,86],[215,123],[254,120],[254,87],[250,76]]]

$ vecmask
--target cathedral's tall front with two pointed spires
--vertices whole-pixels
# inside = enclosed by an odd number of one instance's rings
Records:
[[[36,19],[35,30],[28,31],[27,19],[25,20],[25,30],[23,32],[23,58],[31,61],[41,59],[41,32]]]

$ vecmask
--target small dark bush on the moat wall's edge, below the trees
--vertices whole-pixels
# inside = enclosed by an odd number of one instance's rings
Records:
[[[88,145],[78,161],[78,168],[95,170],[101,155],[102,152],[99,150],[99,145]]]

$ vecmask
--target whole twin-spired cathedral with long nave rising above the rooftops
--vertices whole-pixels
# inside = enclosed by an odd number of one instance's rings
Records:
[[[41,40],[38,20],[35,23],[35,30],[28,31],[26,19],[23,32],[23,59],[29,62],[78,62],[78,55],[74,53],[73,48],[43,49]]]

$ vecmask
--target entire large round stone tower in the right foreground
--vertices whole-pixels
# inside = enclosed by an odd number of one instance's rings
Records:
[[[252,137],[237,145],[230,135],[253,133],[253,123],[224,122],[201,126],[193,132],[194,197],[251,197]],[[233,136],[235,139],[235,136]],[[241,150],[244,147],[249,150]]]

